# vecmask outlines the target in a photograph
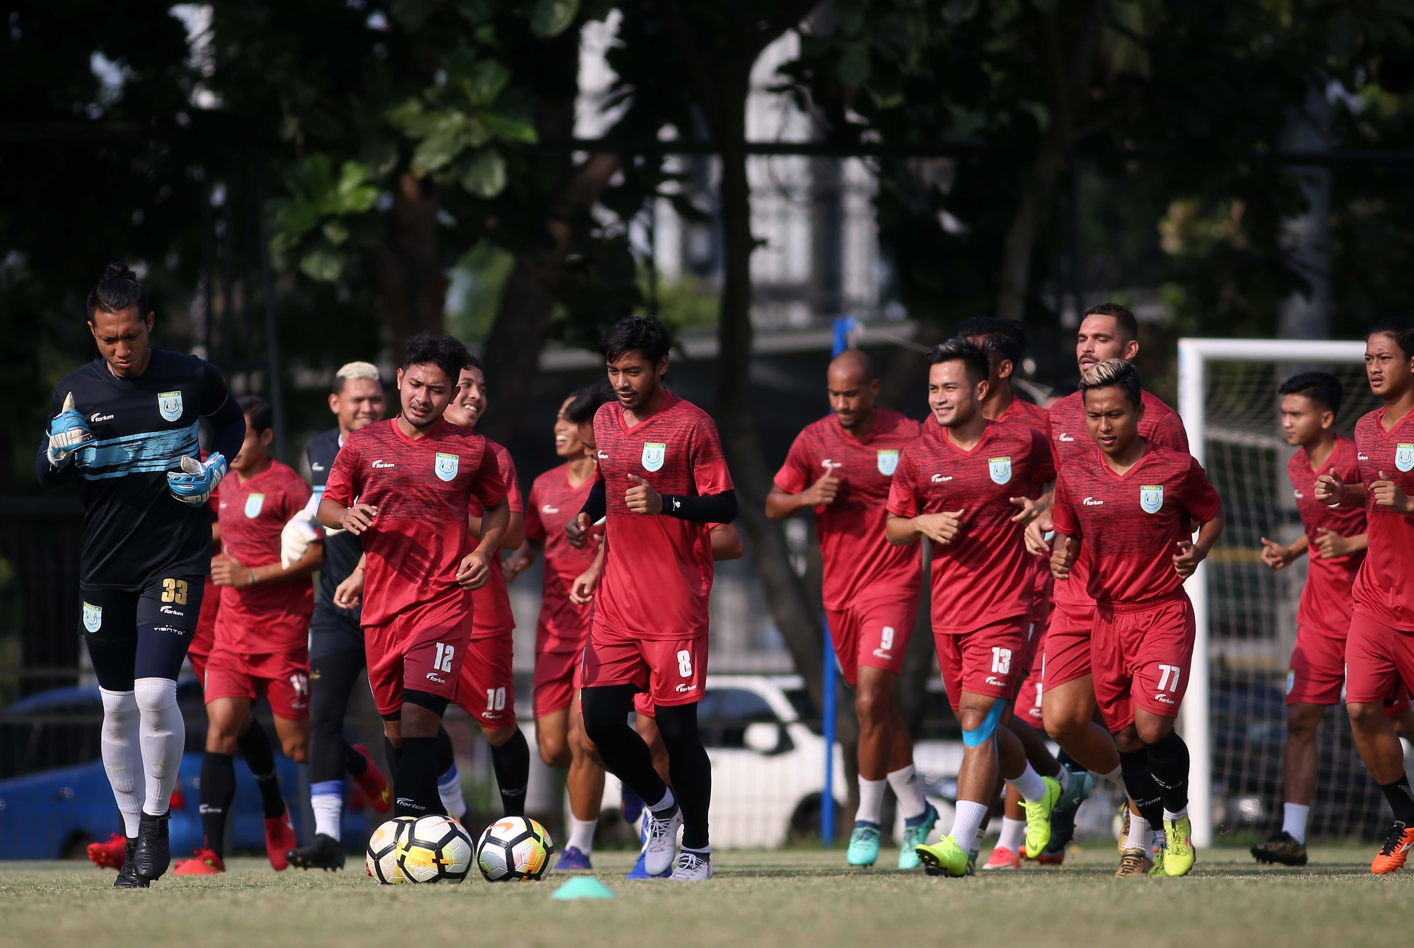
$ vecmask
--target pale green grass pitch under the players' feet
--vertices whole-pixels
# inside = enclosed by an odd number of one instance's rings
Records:
[[[1060,869],[971,879],[851,870],[843,853],[723,852],[703,884],[624,882],[631,853],[595,853],[618,896],[554,901],[542,883],[386,886],[355,872],[287,870],[238,859],[219,877],[112,889],[88,863],[0,863],[0,944],[273,948],[283,945],[1066,945],[1257,948],[1389,945],[1414,882],[1369,875],[1373,848],[1316,848],[1304,870],[1258,869],[1244,851],[1199,852],[1186,879],[1113,879],[1114,849]],[[884,851],[881,865],[896,851]]]

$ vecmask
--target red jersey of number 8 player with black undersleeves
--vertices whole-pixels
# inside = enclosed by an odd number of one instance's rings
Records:
[[[706,636],[713,579],[708,524],[631,513],[624,493],[635,485],[629,475],[666,494],[731,490],[717,425],[697,405],[667,393],[662,408],[632,428],[618,401],[600,405],[594,441],[594,478],[605,485],[608,503],[594,622],[633,639]]]

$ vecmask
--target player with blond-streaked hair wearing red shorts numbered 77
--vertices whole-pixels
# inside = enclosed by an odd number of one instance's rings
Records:
[[[1051,571],[1058,581],[1076,582],[1079,541],[1090,551],[1094,697],[1124,754],[1126,780],[1137,766],[1158,784],[1158,804],[1131,791],[1144,819],[1164,826],[1165,845],[1148,875],[1186,876],[1193,867],[1189,757],[1174,722],[1188,689],[1196,627],[1184,579],[1222,535],[1223,504],[1192,455],[1140,434],[1145,407],[1134,366],[1124,359],[1092,366],[1080,394],[1100,456],[1099,463],[1060,469]],[[1202,524],[1196,541],[1192,523]],[[1133,873],[1121,866],[1116,875]]]

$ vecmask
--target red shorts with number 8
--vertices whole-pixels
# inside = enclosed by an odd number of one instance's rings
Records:
[[[635,639],[595,622],[580,674],[585,688],[633,685],[656,705],[690,705],[707,681],[707,636]]]

